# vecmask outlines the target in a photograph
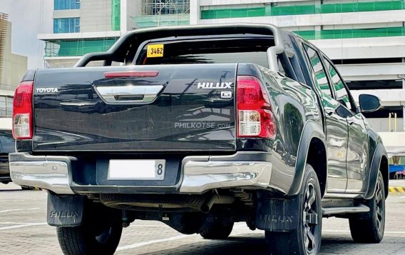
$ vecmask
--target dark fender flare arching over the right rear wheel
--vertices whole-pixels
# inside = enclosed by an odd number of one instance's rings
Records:
[[[313,138],[317,138],[322,141],[326,151],[326,137],[322,125],[316,121],[309,120],[305,122],[302,129],[301,139],[299,140],[297,161],[295,163],[294,177],[291,187],[287,192],[287,196],[295,196],[301,189],[302,181],[304,179],[305,164],[307,163],[307,156],[309,151],[309,145]]]

